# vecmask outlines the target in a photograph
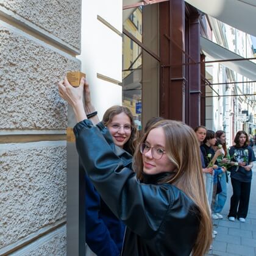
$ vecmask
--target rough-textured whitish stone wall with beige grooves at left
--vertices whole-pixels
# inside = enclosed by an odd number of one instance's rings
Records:
[[[81,1],[0,1],[0,255],[66,254],[67,105]]]

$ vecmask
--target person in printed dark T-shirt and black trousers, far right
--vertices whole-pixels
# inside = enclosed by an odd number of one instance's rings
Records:
[[[248,145],[249,138],[244,130],[240,130],[235,135],[235,146],[230,148],[229,154],[232,162],[230,165],[231,183],[233,195],[230,199],[229,220],[245,222],[249,207],[251,192],[252,167],[255,155]]]

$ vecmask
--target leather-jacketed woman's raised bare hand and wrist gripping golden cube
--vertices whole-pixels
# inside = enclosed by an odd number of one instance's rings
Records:
[[[65,77],[65,79],[58,84],[59,95],[73,107],[77,122],[87,119],[83,103],[84,82],[85,79],[82,77],[79,87],[74,88],[69,84],[68,79]]]

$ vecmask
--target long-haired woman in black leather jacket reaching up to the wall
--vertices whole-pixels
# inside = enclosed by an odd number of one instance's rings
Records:
[[[178,121],[158,122],[141,138],[132,168],[131,156],[113,151],[107,128],[87,119],[83,90],[83,79],[78,88],[59,83],[79,122],[74,133],[82,164],[127,226],[122,255],[204,255],[212,221],[194,131]]]

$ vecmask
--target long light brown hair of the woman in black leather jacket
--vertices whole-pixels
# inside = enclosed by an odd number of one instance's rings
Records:
[[[197,205],[201,222],[192,254],[204,255],[212,243],[212,218],[205,193],[199,147],[195,146],[198,144],[196,133],[191,127],[182,122],[163,120],[151,126],[141,138],[140,143],[143,143],[149,132],[157,127],[162,127],[165,132],[165,151],[177,169],[173,176],[162,180],[161,183],[175,185]],[[138,179],[141,180],[143,178],[143,161],[138,148],[134,154],[133,168],[137,172]]]

